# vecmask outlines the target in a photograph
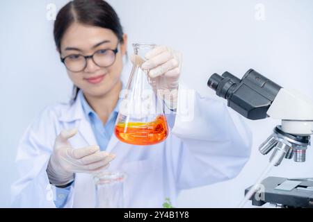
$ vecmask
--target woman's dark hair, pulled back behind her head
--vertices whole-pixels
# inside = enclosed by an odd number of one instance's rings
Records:
[[[103,0],[74,0],[67,3],[56,16],[54,22],[54,41],[61,52],[61,40],[67,28],[74,22],[90,26],[108,28],[123,43],[123,30],[115,10]],[[76,100],[79,88],[74,85],[72,102]]]

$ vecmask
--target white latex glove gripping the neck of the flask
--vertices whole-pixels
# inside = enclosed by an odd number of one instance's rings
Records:
[[[177,108],[179,76],[182,67],[182,53],[174,51],[167,46],[157,46],[145,55],[146,61],[135,55],[131,62],[141,60],[141,69],[149,69],[149,76],[154,81],[152,87],[158,90],[168,90],[164,102],[171,110]]]

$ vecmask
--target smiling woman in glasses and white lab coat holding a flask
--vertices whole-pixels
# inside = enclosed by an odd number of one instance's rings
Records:
[[[138,148],[118,141],[113,128],[127,35],[105,1],[67,3],[56,17],[54,40],[74,93],[70,103],[45,109],[26,129],[17,151],[14,207],[95,207],[93,175],[109,165],[127,173],[125,207],[162,207],[166,197],[175,205],[182,189],[229,180],[246,164],[251,139],[243,121],[224,103],[196,93],[188,121],[179,117],[185,96],[167,101],[177,114],[168,119],[164,142]],[[146,58],[143,69],[152,78],[163,76],[163,88],[184,88],[174,51],[157,46]]]

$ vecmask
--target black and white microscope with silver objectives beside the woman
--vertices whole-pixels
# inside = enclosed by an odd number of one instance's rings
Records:
[[[273,151],[270,162],[275,162],[276,167],[284,158],[305,162],[310,135],[313,134],[312,101],[295,90],[284,89],[253,69],[242,79],[227,71],[222,76],[213,74],[207,85],[216,91],[217,96],[227,99],[230,108],[247,119],[281,119],[281,125],[276,126],[259,146],[263,155]],[[274,203],[283,207],[313,207],[313,179],[269,177],[262,184],[265,199],[252,197],[252,205]]]

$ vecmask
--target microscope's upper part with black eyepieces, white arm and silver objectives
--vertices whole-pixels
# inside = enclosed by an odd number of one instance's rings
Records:
[[[276,126],[272,135],[259,146],[263,155],[273,150],[270,161],[275,160],[276,166],[284,157],[305,162],[313,134],[313,103],[309,99],[295,90],[284,89],[253,69],[241,79],[227,71],[222,76],[213,74],[207,85],[247,119],[282,120],[282,126]]]

